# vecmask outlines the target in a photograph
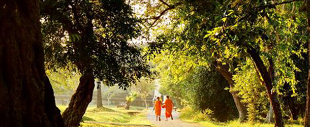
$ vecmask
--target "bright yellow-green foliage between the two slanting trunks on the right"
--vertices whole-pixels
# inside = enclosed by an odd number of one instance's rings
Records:
[[[244,65],[238,68],[233,76],[235,86],[233,91],[238,91],[242,103],[247,106],[247,120],[250,122],[263,121],[269,110],[269,100],[259,73],[251,59],[246,59]]]

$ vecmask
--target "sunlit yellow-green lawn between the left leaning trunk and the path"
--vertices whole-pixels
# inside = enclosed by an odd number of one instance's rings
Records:
[[[65,111],[67,106],[57,106],[61,113]],[[142,107],[132,107],[131,110],[125,110],[123,108],[96,108],[89,106],[82,118],[81,126],[108,126],[108,127],[122,127],[121,125],[111,125],[106,123],[88,123],[93,122],[109,122],[120,124],[147,124],[150,122],[146,119],[147,111]]]

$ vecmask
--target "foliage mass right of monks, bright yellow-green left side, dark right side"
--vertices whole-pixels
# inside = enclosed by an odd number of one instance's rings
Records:
[[[190,57],[167,54],[153,59],[161,78],[161,93],[170,95],[181,105],[191,106],[196,111],[212,110],[213,118],[220,121],[236,117],[231,93],[225,90],[229,84],[213,66],[202,67]]]

